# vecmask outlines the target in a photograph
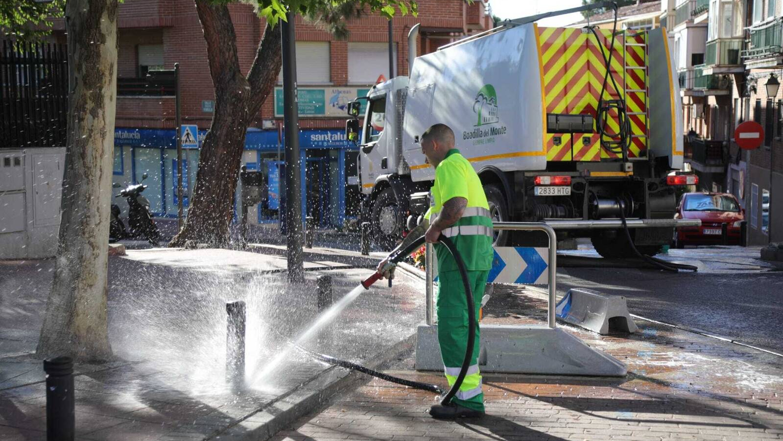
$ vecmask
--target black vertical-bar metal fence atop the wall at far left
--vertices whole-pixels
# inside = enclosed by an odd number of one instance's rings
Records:
[[[3,40],[0,54],[0,146],[65,145],[67,62],[65,45]]]

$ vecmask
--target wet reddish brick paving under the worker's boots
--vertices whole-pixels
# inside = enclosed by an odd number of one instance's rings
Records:
[[[545,320],[538,290],[496,287],[484,323]],[[750,440],[783,439],[783,359],[716,338],[637,320],[638,334],[602,337],[565,327],[629,367],[626,378],[485,374],[488,415],[435,421],[435,394],[374,380],[275,441],[367,440]],[[562,326],[558,324],[559,326]],[[443,384],[413,370],[387,373]]]

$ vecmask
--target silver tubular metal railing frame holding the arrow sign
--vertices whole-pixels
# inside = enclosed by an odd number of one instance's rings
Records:
[[[547,274],[549,283],[549,298],[547,301],[547,326],[554,329],[556,320],[554,317],[555,306],[557,303],[557,235],[554,233],[554,229],[543,222],[493,222],[493,228],[495,230],[516,230],[516,231],[543,231],[547,233],[549,238],[549,273]],[[426,274],[425,284],[425,298],[427,302],[427,324],[432,326],[434,322],[432,311],[432,264],[435,260],[432,258],[433,253],[432,245],[427,244],[427,252],[424,260],[424,270]],[[479,299],[480,300],[480,299]]]

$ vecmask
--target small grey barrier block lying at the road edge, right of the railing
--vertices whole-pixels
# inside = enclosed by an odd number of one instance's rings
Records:
[[[628,313],[622,295],[601,294],[585,288],[572,288],[555,309],[557,319],[598,334],[636,332],[638,327]]]

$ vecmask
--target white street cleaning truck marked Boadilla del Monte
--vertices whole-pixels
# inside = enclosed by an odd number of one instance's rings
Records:
[[[539,18],[506,20],[423,56],[414,27],[410,77],[349,103],[361,220],[378,244],[391,247],[428,208],[435,169],[419,139],[435,123],[453,129],[493,220],[547,222],[558,240],[590,237],[604,257],[669,244],[676,187],[696,176],[675,173],[683,123],[666,30],[539,27]],[[496,231],[498,246],[536,242]]]

